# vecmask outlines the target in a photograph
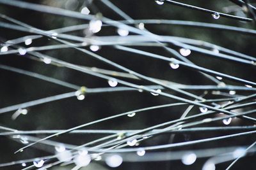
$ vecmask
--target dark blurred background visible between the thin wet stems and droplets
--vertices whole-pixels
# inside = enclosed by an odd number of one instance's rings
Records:
[[[45,4],[48,6],[54,6],[72,11],[81,11],[84,6],[87,6],[90,10],[90,14],[102,13],[104,17],[111,18],[113,20],[123,20],[120,16],[116,15],[113,10],[109,9],[101,1],[80,1],[80,0],[60,0],[60,1],[28,1],[31,3]],[[122,11],[127,13],[133,19],[165,19],[165,20],[191,20],[196,22],[207,22],[214,24],[234,25],[237,27],[244,27],[254,29],[255,25],[250,22],[241,22],[238,20],[232,20],[230,18],[220,17],[218,20],[214,20],[208,13],[202,13],[200,11],[189,10],[172,4],[164,3],[163,5],[157,4],[155,1],[111,1],[118,6]],[[221,11],[232,15],[238,15],[246,17],[241,8],[234,6],[230,1],[211,0],[205,3],[204,0],[198,1],[179,1],[182,3],[188,3],[202,8],[210,10]],[[253,3],[253,1],[251,1]],[[16,20],[20,20],[33,27],[52,30],[60,27],[67,27],[70,25],[88,24],[84,20],[75,18],[62,17],[57,15],[51,15],[38,11],[25,10],[21,8],[15,8],[12,6],[0,5],[0,13],[13,17]],[[1,19],[2,22],[6,20]],[[238,32],[220,31],[214,29],[202,29],[196,27],[185,27],[179,25],[166,25],[166,24],[145,24],[145,28],[148,31],[159,35],[165,36],[180,36],[184,38],[193,38],[216,45],[235,50],[237,52],[245,53],[247,55],[255,55],[255,36],[242,34]],[[72,35],[84,37],[84,30],[69,32]],[[132,34],[132,33],[130,33]],[[1,42],[27,36],[28,33],[15,31],[12,29],[0,29]],[[111,36],[118,35],[115,27],[104,27],[97,36]],[[52,41],[47,38],[35,39],[29,46],[43,46],[58,44],[56,41]],[[25,46],[24,44],[20,44]],[[170,45],[171,48],[179,50],[179,48]],[[89,50],[88,47],[84,47]],[[141,50],[147,50],[148,52],[158,53],[166,57],[173,57],[170,53],[167,53],[159,47],[138,47]],[[45,50],[45,53],[49,56],[57,59],[65,60],[72,64],[78,64],[88,67],[99,67],[102,69],[109,69],[118,71],[115,67],[108,66],[95,60],[89,55],[78,52],[72,48],[64,48],[60,50]],[[174,81],[185,85],[211,85],[212,82],[207,80],[202,74],[180,66],[179,69],[170,69],[168,63],[162,60],[150,59],[134,53],[124,52],[116,50],[112,46],[102,46],[97,52],[102,57],[112,60],[122,66],[128,67],[133,71],[153,78],[159,78],[168,81]],[[198,66],[204,66],[206,68],[219,71],[221,73],[230,74],[246,80],[255,81],[255,68],[246,66],[243,64],[237,64],[230,60],[222,60],[214,57],[202,55],[200,53],[191,52],[188,59],[197,64]],[[84,74],[78,71],[67,69],[65,67],[56,67],[36,60],[31,60],[26,55],[20,56],[17,54],[1,55],[0,63],[20,69],[32,71],[35,73],[44,74],[45,76],[51,76],[59,80],[74,83],[75,85],[85,86],[88,88],[97,87],[109,87],[108,81]],[[128,80],[139,85],[152,85],[148,81]],[[24,103],[27,101],[33,101],[43,97],[54,96],[65,92],[72,92],[72,90],[49,83],[47,81],[38,80],[22,74],[13,73],[10,71],[0,70],[0,108],[11,106],[13,104]],[[232,81],[226,81],[230,85],[239,85]],[[118,84],[118,86],[121,86]],[[166,90],[170,94],[179,96],[175,92]],[[202,91],[193,91],[198,96],[204,93]],[[246,92],[240,92],[241,95],[248,95]],[[207,94],[208,98],[218,98],[212,96],[211,93]],[[139,108],[145,108],[148,106],[156,106],[159,104],[175,103],[173,99],[169,99],[162,96],[152,96],[148,92],[111,92],[111,93],[99,93],[99,94],[86,94],[83,101],[77,100],[76,97],[63,99],[60,101],[53,101],[51,103],[40,104],[38,106],[29,107],[27,115],[20,115],[15,120],[12,120],[12,115],[15,111],[10,111],[0,115],[0,125],[10,127],[19,130],[41,130],[41,129],[69,129],[71,127],[91,122],[99,118],[108,117],[125,111],[136,110]],[[246,108],[250,109],[250,108]],[[186,110],[186,106],[175,106],[170,108],[164,108],[159,110],[145,111],[137,114],[136,117],[120,117],[99,124],[85,127],[84,129],[143,129],[152,125],[161,124],[169,120],[175,120],[179,118]],[[198,113],[198,107],[193,108],[189,115]],[[212,126],[225,126],[221,121],[214,122]],[[250,125],[243,120],[237,118],[232,121],[230,125]],[[207,133],[189,133],[189,134],[176,134],[174,137],[171,134],[156,136],[148,141],[143,141],[141,146],[153,146],[162,145],[166,143],[177,143],[180,141],[190,141],[194,139],[210,138],[214,136],[221,136],[228,134],[228,132],[207,132]],[[44,135],[37,136],[38,138],[44,138]],[[100,138],[100,135],[92,134],[65,134],[57,138],[52,138],[54,141],[61,141],[63,143],[69,143],[72,145],[83,145],[88,141]],[[199,148],[214,148],[220,146],[239,146],[250,145],[255,141],[255,136],[243,136],[239,138],[225,139],[224,141],[208,142],[200,145],[191,145],[182,148],[176,148],[175,150],[189,150]],[[28,148],[22,153],[14,154],[16,150],[22,147],[22,143],[17,143],[11,138],[4,136],[0,137],[0,163],[10,162],[13,160],[30,159],[33,157],[41,157],[48,155],[49,153],[44,146],[41,148]],[[170,149],[170,151],[172,151]],[[191,166],[182,164],[180,160],[176,161],[162,161],[162,162],[124,162],[120,167],[116,169],[202,169],[202,165],[207,159],[197,159]],[[246,169],[253,169],[255,164],[252,161],[255,160],[255,155],[249,155],[239,160],[234,166],[234,169],[242,169],[246,165]],[[229,162],[230,163],[230,162]],[[228,162],[218,164],[216,169],[224,169],[227,167]],[[52,167],[51,169],[71,169],[73,166],[66,167]],[[20,165],[3,167],[3,169],[22,169]],[[111,169],[106,166],[104,162],[93,162],[88,167],[82,169]]]

